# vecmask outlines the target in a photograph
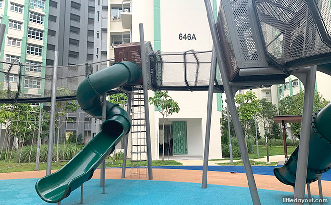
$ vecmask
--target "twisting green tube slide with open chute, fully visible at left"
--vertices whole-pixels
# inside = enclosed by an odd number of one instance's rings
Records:
[[[123,61],[89,75],[77,89],[77,101],[81,108],[100,117],[100,97],[107,91],[126,83],[135,83],[140,78],[140,67]],[[118,105],[107,101],[106,121],[101,131],[60,170],[36,182],[38,195],[46,202],[56,203],[69,196],[70,192],[88,181],[94,170],[111,154],[117,142],[130,131],[130,115]]]

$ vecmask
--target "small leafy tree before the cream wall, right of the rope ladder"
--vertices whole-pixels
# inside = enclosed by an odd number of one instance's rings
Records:
[[[158,108],[158,111],[162,115],[162,133],[163,133],[163,145],[162,145],[162,161],[165,158],[165,120],[169,115],[178,113],[180,108],[176,101],[174,101],[169,95],[168,91],[158,90],[154,93],[154,97],[148,98],[148,102]]]

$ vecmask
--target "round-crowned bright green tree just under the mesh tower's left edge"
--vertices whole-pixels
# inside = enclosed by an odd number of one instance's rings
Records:
[[[236,95],[235,102],[238,104],[239,119],[243,120],[246,142],[248,138],[248,120],[254,119],[254,115],[260,111],[260,100],[257,99],[255,93],[248,91],[245,94]]]

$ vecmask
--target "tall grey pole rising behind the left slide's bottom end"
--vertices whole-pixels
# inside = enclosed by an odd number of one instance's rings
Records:
[[[53,137],[54,137],[54,125],[55,125],[54,123],[55,123],[55,100],[56,100],[56,80],[57,80],[57,58],[58,58],[58,51],[55,51],[53,81],[52,81],[52,97],[51,97],[51,103],[50,103],[50,123],[49,123],[46,175],[51,174],[52,161],[53,161]]]

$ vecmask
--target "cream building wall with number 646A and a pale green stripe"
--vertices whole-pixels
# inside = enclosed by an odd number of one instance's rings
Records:
[[[132,2],[132,41],[139,41],[139,23],[144,24],[145,41],[151,41],[154,50],[165,52],[183,52],[194,49],[205,51],[212,49],[212,38],[208,26],[206,11],[203,1],[190,0],[141,0]],[[184,12],[185,10],[185,12]],[[199,25],[199,26],[196,26]],[[196,40],[179,40],[179,34],[195,34]],[[153,96],[152,92],[148,93]],[[201,134],[195,137],[195,143],[188,144],[188,150],[197,148],[197,152],[188,153],[202,155],[200,148],[204,147],[207,115],[207,91],[169,91],[169,95],[179,103],[180,112],[169,116],[172,120],[201,119],[201,124],[196,127]],[[216,94],[213,98],[213,113],[211,124],[211,139],[209,158],[221,158],[220,142],[220,112],[217,111]],[[152,117],[151,113],[154,113]],[[158,158],[159,138],[158,123],[162,118],[161,114],[155,111],[154,106],[150,106],[151,143],[152,158]],[[198,124],[196,124],[198,125]],[[189,128],[189,126],[188,126]],[[193,129],[192,129],[193,130]],[[190,132],[192,131],[190,130]],[[188,132],[189,133],[189,132]]]

